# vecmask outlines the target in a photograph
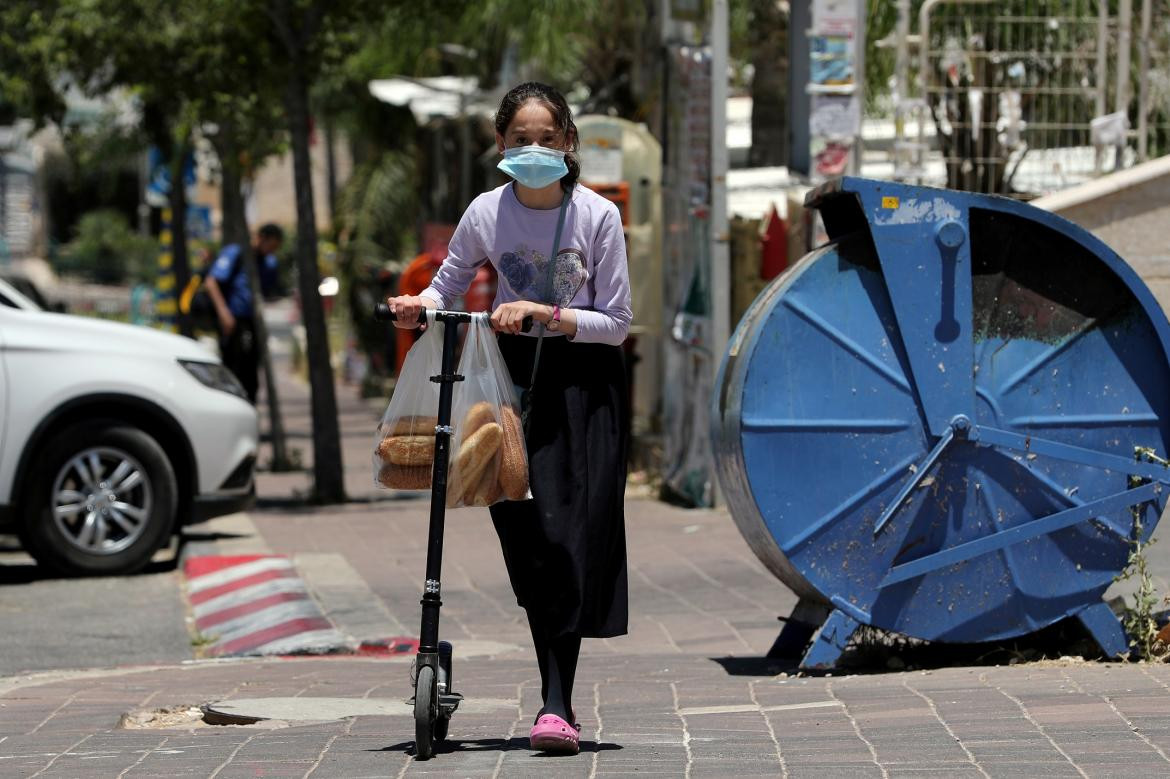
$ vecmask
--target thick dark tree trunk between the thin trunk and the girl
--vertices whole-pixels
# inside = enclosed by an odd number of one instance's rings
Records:
[[[329,360],[325,311],[317,291],[317,225],[312,207],[309,164],[309,88],[296,68],[288,81],[285,109],[292,142],[292,175],[296,182],[297,288],[304,323],[312,411],[312,473],[315,497],[322,503],[345,501],[342,439],[333,393],[333,367]]]

